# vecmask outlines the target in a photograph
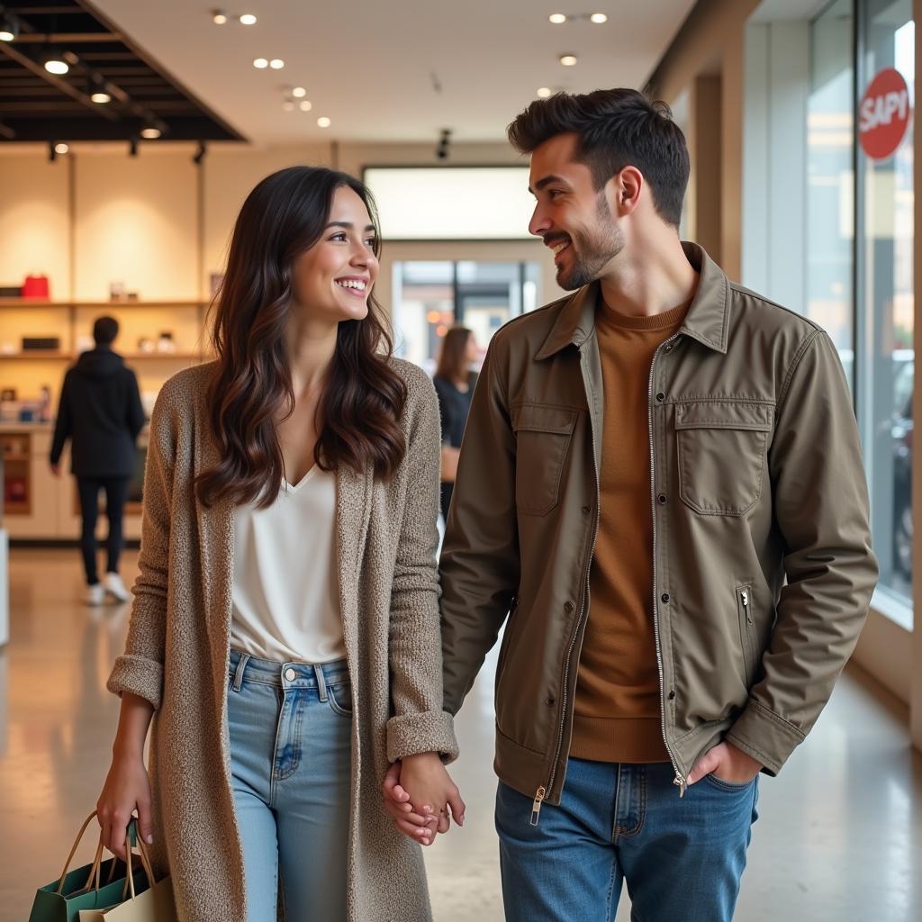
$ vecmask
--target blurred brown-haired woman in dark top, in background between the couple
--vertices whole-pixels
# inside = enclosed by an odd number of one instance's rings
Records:
[[[474,396],[474,384],[477,384],[477,372],[470,370],[477,355],[473,332],[466,326],[453,326],[442,340],[439,363],[432,378],[442,416],[442,515],[446,522],[455,487],[461,437]]]

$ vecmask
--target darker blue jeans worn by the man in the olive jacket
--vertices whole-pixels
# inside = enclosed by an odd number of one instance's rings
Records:
[[[612,922],[621,882],[632,922],[730,922],[755,822],[758,779],[708,776],[684,798],[668,764],[571,759],[559,807],[500,783],[506,922]]]

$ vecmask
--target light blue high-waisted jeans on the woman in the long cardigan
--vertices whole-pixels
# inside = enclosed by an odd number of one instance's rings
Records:
[[[346,919],[352,692],[345,661],[273,663],[231,650],[231,780],[247,922]]]

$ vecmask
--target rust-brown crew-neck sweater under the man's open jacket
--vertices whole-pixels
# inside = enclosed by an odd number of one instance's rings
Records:
[[[656,347],[679,329],[682,304],[652,317],[600,302],[605,384],[600,521],[570,754],[597,762],[668,762],[653,630],[653,520],[647,420]]]

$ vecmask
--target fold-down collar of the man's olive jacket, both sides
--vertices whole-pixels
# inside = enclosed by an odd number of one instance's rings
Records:
[[[717,352],[727,352],[729,299],[727,276],[697,243],[682,242],[692,268],[700,274],[698,290],[680,326],[680,333]],[[599,283],[590,282],[564,303],[536,359],[547,359],[566,346],[581,347],[596,328]]]

